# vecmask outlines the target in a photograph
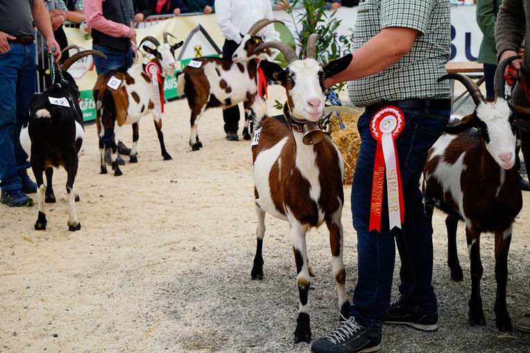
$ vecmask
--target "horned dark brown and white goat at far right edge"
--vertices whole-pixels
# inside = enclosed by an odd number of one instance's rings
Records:
[[[528,119],[530,110],[511,107],[504,100],[504,69],[509,58],[497,67],[495,100],[486,101],[477,84],[459,75],[445,75],[439,80],[462,82],[477,108],[445,133],[431,147],[424,169],[423,192],[429,221],[434,206],[447,212],[447,264],[451,278],[463,280],[456,255],[456,226],[465,221],[465,236],[471,263],[471,325],[486,325],[482,310],[480,280],[483,268],[480,259],[480,235],[495,233],[495,298],[496,324],[500,331],[512,328],[506,309],[508,280],[508,248],[512,224],[522,208],[522,194],[515,163],[515,124]]]

